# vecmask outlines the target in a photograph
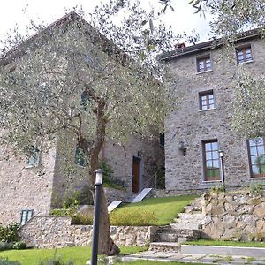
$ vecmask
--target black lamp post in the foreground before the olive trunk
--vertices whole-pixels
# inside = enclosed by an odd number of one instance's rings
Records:
[[[97,265],[102,182],[103,182],[102,170],[95,170],[95,205],[94,205],[91,265]]]

